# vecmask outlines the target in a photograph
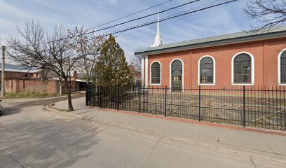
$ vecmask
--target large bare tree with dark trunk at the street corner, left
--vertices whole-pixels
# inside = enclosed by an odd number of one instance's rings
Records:
[[[67,29],[59,25],[51,32],[44,31],[33,20],[26,20],[17,29],[20,37],[8,38],[8,55],[14,62],[24,66],[55,72],[67,90],[68,111],[73,111],[68,72],[81,57],[72,52]]]

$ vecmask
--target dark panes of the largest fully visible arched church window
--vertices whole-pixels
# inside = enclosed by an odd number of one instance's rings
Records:
[[[233,59],[233,83],[252,83],[252,58],[241,53]]]

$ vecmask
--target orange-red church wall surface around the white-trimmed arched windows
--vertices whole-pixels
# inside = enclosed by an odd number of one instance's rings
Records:
[[[185,50],[148,56],[148,80],[150,84],[150,64],[161,62],[161,85],[170,85],[170,62],[182,59],[184,64],[184,83],[198,86],[198,60],[210,55],[216,63],[216,86],[231,86],[231,59],[238,52],[250,52],[254,56],[254,86],[278,85],[278,54],[286,48],[286,38],[222,45],[218,47]]]

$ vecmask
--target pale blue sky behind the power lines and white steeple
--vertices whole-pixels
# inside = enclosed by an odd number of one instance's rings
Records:
[[[168,0],[0,0],[1,45],[6,44],[8,36],[18,36],[16,25],[21,26],[26,19],[36,20],[47,30],[52,30],[58,24],[63,24],[68,29],[74,29],[76,26],[83,26],[85,29],[88,29],[165,1]],[[176,10],[161,13],[160,18],[182,13],[185,10],[198,9],[212,2],[222,1],[225,0],[200,0]],[[213,8],[212,10],[202,10],[198,13],[161,22],[163,44],[229,34],[249,29],[250,24],[253,25],[255,23],[249,20],[243,13],[243,8],[245,8],[247,1],[249,0],[240,0]],[[161,5],[159,10],[179,6],[186,2],[189,1],[173,0]],[[132,15],[123,20],[112,22],[109,25],[97,27],[96,29],[156,13],[157,11],[158,7],[151,8],[137,15]],[[98,33],[108,34],[135,25],[155,21],[156,19],[157,15],[152,15],[149,18],[99,31]],[[130,57],[134,55],[135,50],[138,50],[138,48],[153,45],[156,35],[156,25],[149,25],[115,35],[116,41],[125,51],[127,59],[130,60]]]

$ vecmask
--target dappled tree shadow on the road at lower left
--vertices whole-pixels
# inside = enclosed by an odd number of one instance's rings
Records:
[[[70,118],[27,118],[0,128],[0,156],[20,167],[71,167],[86,158],[102,127]],[[4,158],[0,157],[0,167]]]

